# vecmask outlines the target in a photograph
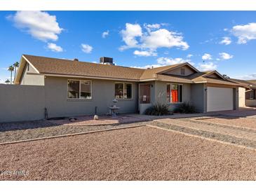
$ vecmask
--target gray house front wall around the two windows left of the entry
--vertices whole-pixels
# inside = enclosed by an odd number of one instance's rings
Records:
[[[114,83],[124,81],[107,81],[96,79],[85,79],[92,81],[92,99],[91,100],[69,100],[67,99],[67,80],[71,78],[51,77],[45,78],[46,90],[46,108],[48,109],[48,116],[79,116],[85,114],[94,114],[95,107],[97,107],[97,114],[107,114],[108,107],[113,104],[114,100]],[[81,79],[81,78],[72,78]],[[119,100],[116,104],[121,107],[120,114],[135,113],[138,110],[137,89],[138,85],[132,83],[131,100]]]

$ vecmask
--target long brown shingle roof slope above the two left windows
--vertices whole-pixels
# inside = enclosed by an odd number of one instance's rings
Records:
[[[139,80],[144,69],[77,62],[50,57],[24,55],[41,74],[60,74],[72,76],[95,76],[101,78],[121,78]]]

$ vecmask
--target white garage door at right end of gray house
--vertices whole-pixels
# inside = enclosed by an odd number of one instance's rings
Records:
[[[207,111],[233,110],[233,88],[207,88]]]

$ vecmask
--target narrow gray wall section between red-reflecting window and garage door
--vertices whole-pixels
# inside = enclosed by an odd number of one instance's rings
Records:
[[[196,107],[196,111],[206,111],[206,91],[203,83],[191,84],[191,103]]]

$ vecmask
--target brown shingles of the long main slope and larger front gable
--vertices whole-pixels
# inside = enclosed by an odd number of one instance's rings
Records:
[[[137,69],[132,67],[121,67],[106,64],[95,64],[90,62],[77,62],[73,60],[63,60],[50,57],[40,57],[34,55],[24,55],[29,62],[41,74],[56,74],[69,76],[91,76],[100,78],[120,78],[123,80],[140,81],[147,79],[159,79],[160,81],[173,81],[192,83],[189,79],[176,76],[157,76],[161,71],[173,69],[182,64],[173,64],[153,69]]]

